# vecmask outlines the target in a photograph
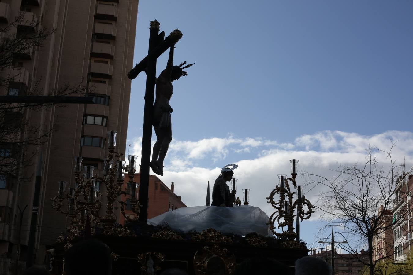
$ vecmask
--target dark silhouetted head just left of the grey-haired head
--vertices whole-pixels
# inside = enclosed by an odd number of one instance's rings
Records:
[[[253,258],[247,259],[235,267],[233,275],[273,275],[273,274],[289,274],[288,267],[276,260],[269,258]]]

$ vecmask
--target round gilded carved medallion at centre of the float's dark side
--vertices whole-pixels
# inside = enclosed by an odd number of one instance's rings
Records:
[[[204,246],[194,256],[196,275],[229,275],[233,273],[235,264],[234,254],[218,244]]]

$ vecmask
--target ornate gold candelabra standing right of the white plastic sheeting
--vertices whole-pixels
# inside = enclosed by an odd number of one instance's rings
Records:
[[[294,195],[296,193],[291,192],[288,181],[291,181],[294,188],[297,188],[295,179],[297,178],[296,170],[298,160],[290,160],[290,163],[291,177],[287,178],[287,176],[283,174],[278,175],[278,178],[280,179],[280,186],[275,186],[275,189],[271,191],[270,196],[267,197],[267,200],[269,200],[268,203],[271,203],[271,205],[276,209],[276,211],[271,214],[267,224],[277,237],[294,239],[297,236],[297,233],[294,232],[293,226],[294,217],[297,216],[297,219],[301,219],[301,221],[309,219],[311,213],[314,213],[312,209],[315,207],[305,198],[304,195],[301,196],[301,186],[298,186],[297,199],[294,201]],[[274,201],[275,194],[280,195],[278,202]],[[308,211],[303,210],[304,206],[307,207]],[[294,214],[296,208],[297,215]],[[275,222],[278,223],[278,226],[275,226]],[[284,230],[285,226],[287,226],[287,230]],[[281,228],[282,233],[275,232],[276,228]]]

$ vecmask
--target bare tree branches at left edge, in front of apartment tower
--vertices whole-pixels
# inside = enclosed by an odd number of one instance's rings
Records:
[[[87,93],[88,88],[83,80],[78,84],[64,83],[58,89],[48,91],[40,87],[40,79],[33,80],[29,87],[23,84],[13,86],[16,79],[21,77],[17,61],[33,56],[53,32],[54,30],[42,27],[36,20],[25,21],[24,12],[19,12],[8,24],[0,24],[0,95],[69,96]],[[27,148],[38,148],[47,142],[53,127],[43,128],[30,121],[29,115],[54,106],[63,105],[40,102],[0,103],[0,181],[21,177],[21,174],[16,174],[16,170],[33,164],[38,152],[29,153]]]

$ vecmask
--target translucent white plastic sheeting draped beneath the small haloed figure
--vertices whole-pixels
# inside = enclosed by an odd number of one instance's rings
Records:
[[[271,235],[266,223],[268,216],[259,207],[242,205],[233,207],[182,207],[147,220],[154,226],[168,226],[175,231],[188,232],[214,228],[221,233]],[[271,233],[271,234],[270,234]]]

